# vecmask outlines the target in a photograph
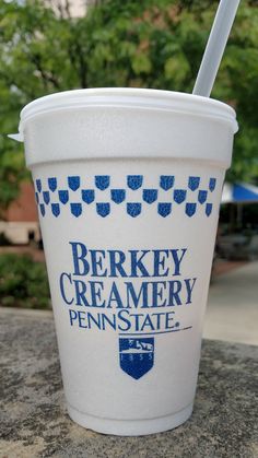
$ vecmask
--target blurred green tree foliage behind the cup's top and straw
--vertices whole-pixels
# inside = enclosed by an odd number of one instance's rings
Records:
[[[209,0],[105,0],[72,17],[68,0],[54,4],[1,0],[3,133],[16,130],[22,106],[58,91],[136,86],[191,92],[218,7]],[[258,176],[257,62],[258,5],[243,0],[212,92],[238,115],[232,180]],[[0,154],[4,207],[24,176],[22,148],[3,136]]]

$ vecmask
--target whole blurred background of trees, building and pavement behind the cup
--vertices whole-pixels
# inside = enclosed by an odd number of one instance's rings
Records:
[[[0,305],[50,309],[34,189],[16,132],[46,94],[191,92],[218,1],[0,0]],[[204,336],[258,344],[258,1],[242,0],[212,97],[237,111]]]

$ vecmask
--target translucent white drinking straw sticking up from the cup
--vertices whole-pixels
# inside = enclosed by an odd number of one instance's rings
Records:
[[[220,1],[192,91],[195,95],[210,96],[238,4],[239,0]]]

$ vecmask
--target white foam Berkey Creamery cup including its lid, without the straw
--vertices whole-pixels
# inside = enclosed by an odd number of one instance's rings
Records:
[[[80,90],[32,102],[20,126],[71,419],[118,435],[178,426],[192,411],[234,110]]]

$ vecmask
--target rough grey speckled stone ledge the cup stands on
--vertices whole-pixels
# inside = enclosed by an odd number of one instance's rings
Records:
[[[102,435],[69,419],[51,313],[1,308],[0,347],[1,458],[258,457],[257,347],[204,341],[191,419],[144,437]]]

